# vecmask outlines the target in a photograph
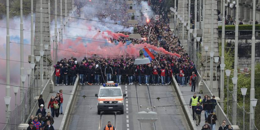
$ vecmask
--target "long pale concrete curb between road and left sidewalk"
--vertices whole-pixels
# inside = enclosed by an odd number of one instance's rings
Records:
[[[77,76],[77,78],[76,78],[76,81],[74,83],[71,95],[70,95],[70,97],[68,99],[68,104],[67,104],[66,110],[64,112],[64,116],[62,118],[62,121],[60,123],[60,129],[59,130],[64,130],[65,125],[67,123],[68,115],[69,115],[69,112],[70,112],[70,110],[72,108],[72,101],[73,101],[73,99],[75,97],[75,93],[76,93],[76,90],[77,90],[77,87],[78,87],[78,82],[79,82],[79,76]]]

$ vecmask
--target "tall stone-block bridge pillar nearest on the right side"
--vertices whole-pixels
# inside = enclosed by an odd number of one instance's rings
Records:
[[[217,1],[214,1],[217,2]],[[205,0],[205,16],[211,16],[211,0]],[[207,62],[206,63],[206,52],[205,49],[203,48],[203,53],[202,53],[202,76],[204,80],[207,80],[206,83],[208,86],[210,86],[210,81],[209,81],[209,73],[210,73],[210,53],[211,51],[214,51],[214,56],[219,56],[219,44],[218,44],[218,16],[217,16],[217,4],[214,5],[214,21],[211,21],[211,17],[205,17],[205,29],[204,29],[204,40],[203,40],[203,46],[208,46],[208,52],[207,52]],[[211,49],[211,24],[214,24],[214,43],[213,43],[213,49]],[[207,67],[206,67],[207,64]],[[216,63],[213,61],[213,72],[216,72]],[[218,96],[218,81],[215,80],[216,77],[213,77],[213,88],[211,92],[214,92],[213,94]],[[219,80],[219,78],[218,78]],[[216,93],[215,93],[216,92]]]

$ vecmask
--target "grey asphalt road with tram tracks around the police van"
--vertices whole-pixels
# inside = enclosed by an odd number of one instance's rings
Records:
[[[101,129],[110,121],[115,125],[116,130],[185,130],[184,122],[182,121],[180,110],[178,109],[170,86],[149,86],[146,85],[120,85],[122,92],[127,94],[127,99],[124,99],[124,114],[120,112],[102,112]],[[99,91],[99,86],[80,86],[79,95],[91,97],[77,96],[73,112],[69,121],[69,130],[76,129],[91,129],[99,130],[100,115],[97,114],[97,97],[95,94]],[[150,96],[150,98],[149,98]],[[137,98],[138,97],[138,98]],[[151,99],[160,97],[160,100]],[[168,97],[168,98],[163,98]],[[152,104],[152,105],[151,105]],[[142,106],[141,108],[139,106]],[[139,123],[137,114],[139,111],[144,111],[146,106],[165,106],[155,107],[152,111],[158,113],[158,120],[155,123]],[[151,108],[150,108],[151,109]]]

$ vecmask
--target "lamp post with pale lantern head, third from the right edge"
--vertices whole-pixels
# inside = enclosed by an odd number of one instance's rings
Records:
[[[234,111],[234,107],[236,107],[236,85],[237,85],[237,77],[233,77],[232,78],[232,82],[233,82],[233,101],[232,101],[232,121],[233,121],[233,124],[236,124],[236,114],[235,111]]]

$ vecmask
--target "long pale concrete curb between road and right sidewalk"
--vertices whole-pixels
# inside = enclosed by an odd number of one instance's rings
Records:
[[[181,94],[179,85],[178,85],[177,81],[175,80],[174,76],[173,76],[172,80],[174,82],[173,86],[174,86],[174,88],[176,90],[176,93],[177,93],[177,96],[178,96],[178,98],[180,100],[181,107],[183,108],[185,117],[186,117],[186,119],[187,119],[187,121],[189,123],[189,127],[192,130],[197,130],[197,127],[196,127],[194,121],[192,120],[192,116],[191,116],[191,114],[189,112],[189,108],[188,108],[188,106],[187,106],[187,104],[186,104],[186,102],[185,102],[185,100],[184,100],[184,98],[183,98],[183,96]]]

